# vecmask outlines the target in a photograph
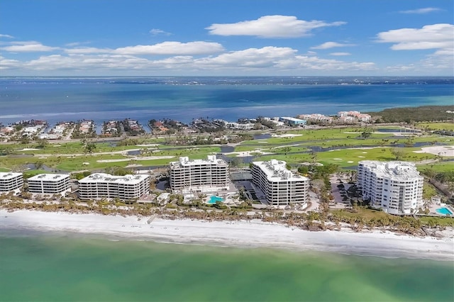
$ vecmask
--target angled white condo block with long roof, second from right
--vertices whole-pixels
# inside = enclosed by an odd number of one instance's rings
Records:
[[[252,174],[256,193],[264,196],[272,206],[307,201],[309,179],[289,171],[284,161],[253,162]]]

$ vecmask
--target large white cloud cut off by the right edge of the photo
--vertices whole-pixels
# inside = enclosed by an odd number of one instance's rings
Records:
[[[422,28],[401,28],[378,33],[378,42],[394,43],[392,50],[426,50],[453,47],[453,24],[438,23]]]

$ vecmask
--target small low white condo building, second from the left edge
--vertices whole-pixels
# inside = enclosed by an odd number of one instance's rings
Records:
[[[65,195],[70,191],[69,174],[38,174],[27,182],[31,193]]]

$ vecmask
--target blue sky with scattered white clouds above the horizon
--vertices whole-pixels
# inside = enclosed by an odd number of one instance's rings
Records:
[[[1,0],[0,76],[454,76],[452,0]]]

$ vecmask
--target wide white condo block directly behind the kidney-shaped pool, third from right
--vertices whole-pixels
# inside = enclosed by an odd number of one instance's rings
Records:
[[[170,162],[170,188],[182,194],[227,191],[228,175],[228,164],[216,155],[206,160],[179,157],[178,162]]]

